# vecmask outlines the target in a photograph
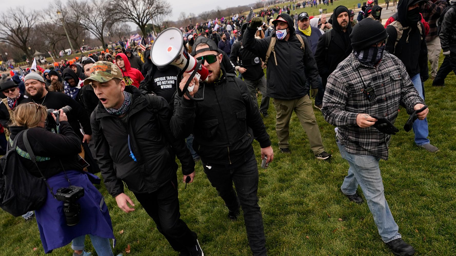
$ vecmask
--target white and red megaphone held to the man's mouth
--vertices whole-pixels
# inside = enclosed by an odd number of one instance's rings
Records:
[[[152,62],[158,67],[171,64],[183,69],[186,73],[192,73],[197,69],[195,77],[200,81],[207,81],[209,71],[203,65],[197,67],[197,60],[188,54],[183,43],[184,37],[179,29],[170,27],[161,31],[150,49]]]

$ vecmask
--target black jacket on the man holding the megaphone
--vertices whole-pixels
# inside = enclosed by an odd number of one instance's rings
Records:
[[[171,129],[177,138],[195,136],[193,149],[204,164],[232,165],[245,162],[253,139],[262,148],[271,145],[263,120],[244,81],[225,74],[218,84],[200,83],[200,102],[175,100]],[[253,136],[252,136],[253,130]]]

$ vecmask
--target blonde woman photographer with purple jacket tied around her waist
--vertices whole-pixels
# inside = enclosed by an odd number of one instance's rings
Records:
[[[47,190],[46,202],[41,209],[35,211],[44,252],[51,252],[73,240],[73,256],[90,256],[92,253],[84,251],[85,235],[89,235],[99,256],[113,256],[109,239],[114,239],[114,234],[108,207],[101,193],[91,182],[98,179],[99,183],[99,178],[83,172],[83,167],[78,162],[81,140],[67,122],[64,111],[60,110],[59,134],[45,129],[47,109],[43,105],[20,104],[13,115],[10,140],[17,140],[16,152],[21,156],[21,162],[36,177],[41,178],[41,171],[53,190],[53,194]],[[51,115],[55,120],[56,116]],[[26,129],[29,129],[27,139],[36,156],[37,165],[30,160],[30,155],[26,152],[23,133],[17,136]],[[65,202],[54,198],[59,188],[67,188],[70,185],[80,187],[78,189],[83,188],[83,195],[70,204],[80,205],[79,219],[66,218],[63,212]]]

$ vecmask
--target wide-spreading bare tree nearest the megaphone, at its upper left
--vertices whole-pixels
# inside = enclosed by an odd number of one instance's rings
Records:
[[[143,35],[146,35],[145,27],[152,17],[171,13],[171,5],[166,0],[110,0],[109,2],[116,6],[114,16],[122,21],[135,23]]]

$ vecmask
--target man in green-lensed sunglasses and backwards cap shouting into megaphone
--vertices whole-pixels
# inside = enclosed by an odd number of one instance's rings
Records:
[[[209,70],[207,82],[193,78],[190,94],[203,101],[177,99],[171,130],[177,138],[193,133],[193,148],[201,157],[204,172],[228,207],[228,218],[236,220],[244,211],[250,249],[254,256],[265,256],[263,218],[258,205],[258,165],[253,138],[261,146],[261,158],[272,162],[274,152],[258,108],[245,83],[220,67],[222,54],[206,37],[197,37],[192,56]],[[190,74],[184,73],[181,89]],[[252,133],[253,131],[253,133]],[[184,177],[184,181],[185,181]],[[233,182],[236,192],[233,189]]]

